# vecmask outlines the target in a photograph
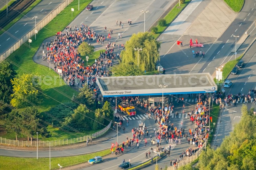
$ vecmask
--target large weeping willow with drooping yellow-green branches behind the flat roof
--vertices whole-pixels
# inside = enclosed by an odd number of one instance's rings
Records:
[[[134,48],[142,48],[142,51],[135,51]],[[139,68],[141,70],[152,71],[156,62],[160,59],[160,43],[155,40],[150,32],[139,32],[133,34],[130,40],[126,41],[125,49],[121,52],[121,60],[124,64],[137,65],[139,57]]]

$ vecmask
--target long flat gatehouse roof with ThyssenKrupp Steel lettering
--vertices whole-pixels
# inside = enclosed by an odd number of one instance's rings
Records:
[[[104,97],[215,92],[217,85],[209,73],[148,76],[99,77],[97,84]]]

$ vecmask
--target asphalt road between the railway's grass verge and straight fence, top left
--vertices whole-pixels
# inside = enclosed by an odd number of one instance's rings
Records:
[[[40,22],[62,2],[63,0],[44,0],[29,11],[22,19],[16,22],[11,28],[0,36],[0,54],[3,54],[13,44],[24,37],[27,32],[35,27],[35,16],[38,17],[36,22]]]

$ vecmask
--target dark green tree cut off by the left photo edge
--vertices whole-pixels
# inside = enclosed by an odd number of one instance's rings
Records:
[[[16,72],[13,70],[13,65],[4,60],[0,63],[0,114],[10,112],[10,108],[7,107],[11,101],[11,94],[13,85],[11,79],[16,76]]]

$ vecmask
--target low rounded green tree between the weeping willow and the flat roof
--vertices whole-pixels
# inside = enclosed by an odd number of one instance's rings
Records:
[[[137,67],[137,65],[129,65],[129,64],[118,64],[114,66],[111,70],[113,72],[113,76],[141,76],[143,75],[143,71]]]

